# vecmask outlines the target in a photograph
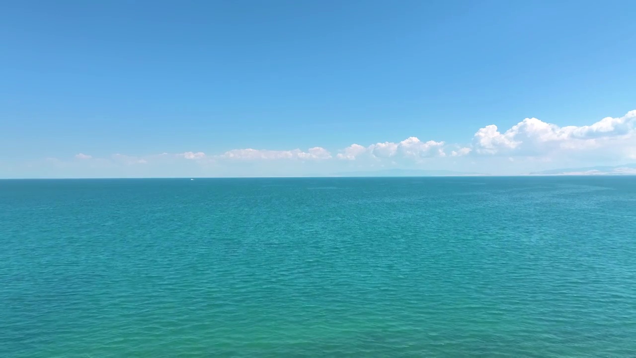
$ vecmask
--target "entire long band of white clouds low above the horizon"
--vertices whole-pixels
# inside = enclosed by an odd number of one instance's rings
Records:
[[[242,148],[228,150],[222,154],[205,152],[184,152],[179,154],[162,153],[158,155],[134,156],[114,154],[99,158],[90,154],[78,153],[74,161],[107,166],[135,166],[151,163],[168,164],[170,161],[185,160],[203,166],[212,166],[230,162],[301,161],[301,162],[357,162],[371,163],[371,167],[390,164],[393,167],[420,164],[428,161],[452,161],[460,158],[476,161],[490,157],[502,163],[525,158],[550,162],[554,159],[598,159],[630,161],[636,159],[636,110],[622,117],[605,117],[590,125],[560,127],[543,122],[537,118],[525,118],[506,131],[500,131],[497,125],[490,124],[478,129],[473,138],[466,143],[446,143],[445,141],[423,141],[410,136],[397,143],[385,141],[360,145],[353,143],[349,147],[330,152],[323,147],[307,150],[264,150]],[[50,159],[60,165],[64,161]],[[379,166],[375,164],[380,163]],[[363,169],[364,167],[360,166]],[[367,168],[368,169],[368,168]],[[258,173],[257,173],[258,174]]]

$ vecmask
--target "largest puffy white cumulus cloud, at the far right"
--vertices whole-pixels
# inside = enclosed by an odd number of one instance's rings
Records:
[[[525,118],[503,133],[494,124],[479,129],[473,137],[473,149],[476,154],[542,155],[556,150],[607,147],[615,144],[611,141],[630,138],[635,122],[636,110],[581,127],[559,127],[537,118]]]

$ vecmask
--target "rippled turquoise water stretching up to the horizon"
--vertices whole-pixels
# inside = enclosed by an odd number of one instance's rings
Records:
[[[1,357],[634,357],[636,177],[0,181]]]

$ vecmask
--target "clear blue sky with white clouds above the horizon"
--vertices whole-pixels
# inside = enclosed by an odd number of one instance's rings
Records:
[[[633,1],[5,3],[0,178],[636,162],[633,13]]]

